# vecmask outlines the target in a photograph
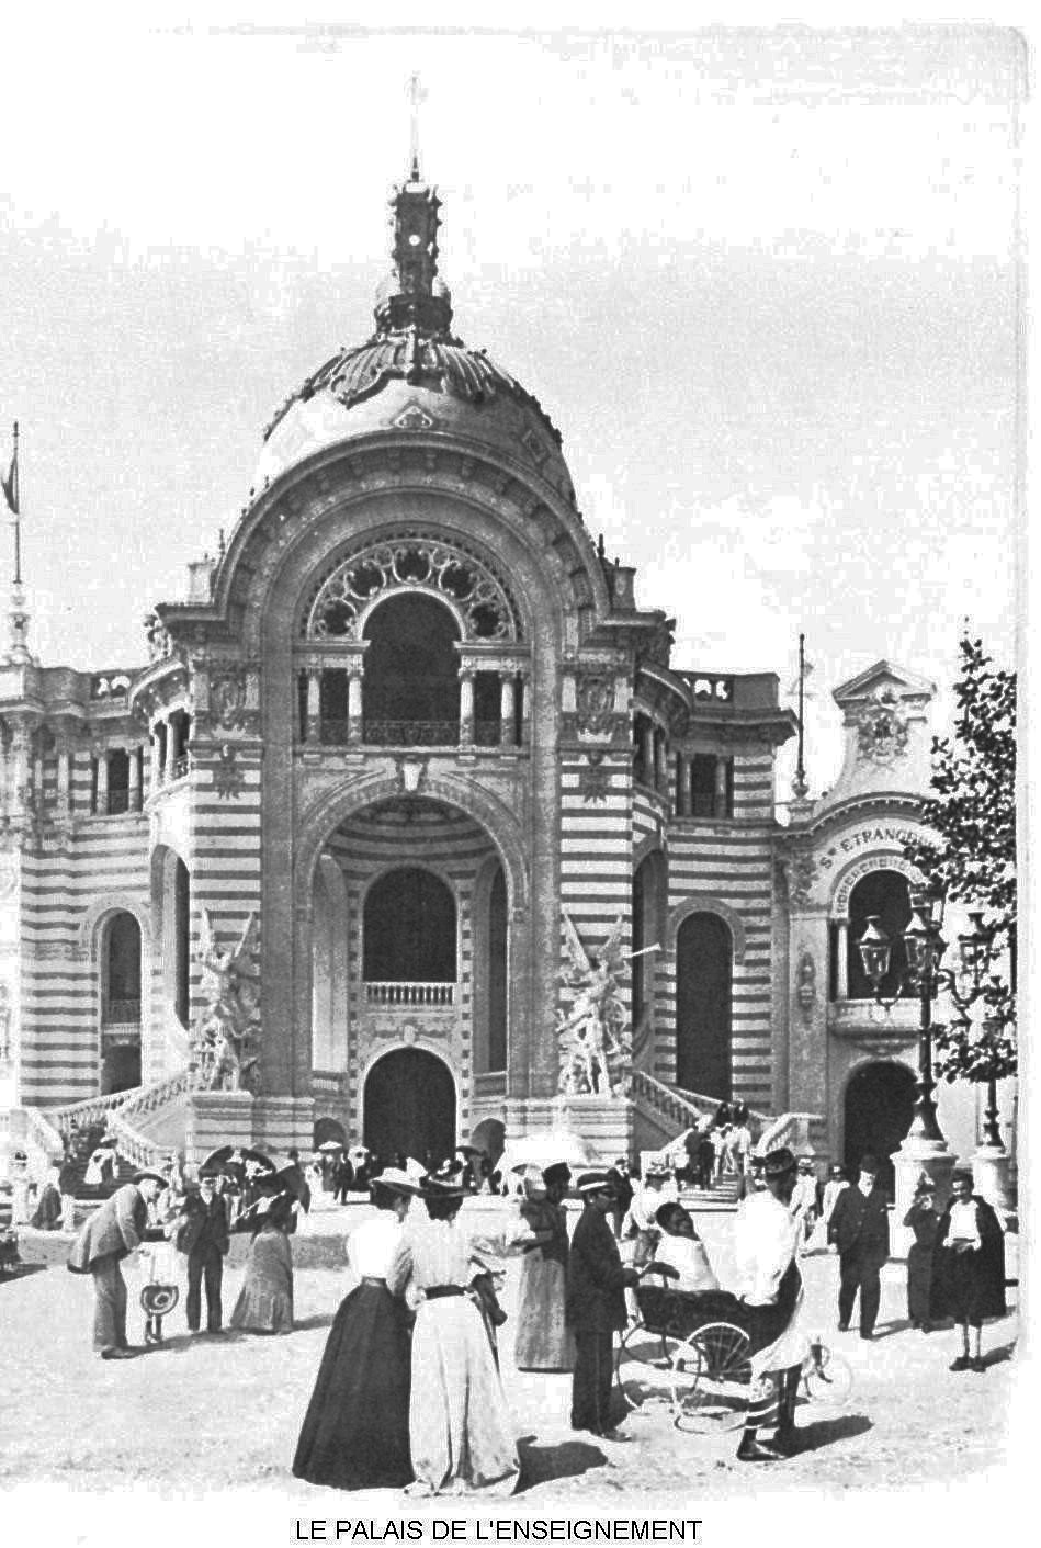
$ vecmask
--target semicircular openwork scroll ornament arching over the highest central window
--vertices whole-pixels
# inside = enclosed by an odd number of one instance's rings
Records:
[[[467,639],[520,638],[514,601],[483,560],[433,536],[407,534],[360,550],[322,577],[303,616],[305,639],[360,639],[370,608],[391,591],[442,598]]]

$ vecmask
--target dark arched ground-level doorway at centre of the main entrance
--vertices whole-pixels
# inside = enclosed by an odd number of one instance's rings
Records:
[[[396,1048],[365,1081],[365,1144],[382,1161],[398,1152],[438,1166],[456,1144],[455,1082],[442,1059]]]

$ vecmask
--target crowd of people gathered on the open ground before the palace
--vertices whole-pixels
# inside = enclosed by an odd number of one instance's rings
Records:
[[[342,1159],[351,1166],[346,1187]],[[667,1164],[648,1166],[636,1181],[623,1158],[577,1178],[563,1163],[520,1169],[515,1207],[461,1215],[467,1194],[481,1187],[480,1166],[467,1158],[462,1170],[428,1172],[401,1159],[384,1166],[362,1147],[353,1155],[337,1147],[311,1163],[294,1152],[278,1167],[223,1147],[195,1176],[176,1158],[162,1170],[138,1172],[87,1220],[70,1252],[70,1268],[93,1277],[96,1350],[104,1359],[136,1353],[127,1342],[121,1263],[138,1248],[153,1254],[159,1286],[164,1274],[170,1283],[176,1277],[169,1255],[181,1257],[189,1330],[203,1327],[206,1299],[206,1330],[220,1333],[223,1266],[235,1231],[247,1231],[251,1245],[230,1327],[291,1331],[291,1237],[300,1211],[312,1189],[340,1197],[362,1187],[374,1214],[346,1238],[353,1288],[336,1313],[292,1461],[294,1474],[311,1483],[419,1495],[515,1488],[520,1461],[498,1351],[509,1257],[521,1257],[514,1367],[571,1373],[572,1427],[606,1441],[626,1438],[611,1416],[614,1337],[647,1276],[691,1305],[725,1300],[725,1319],[746,1330],[753,1379],[741,1461],[776,1461],[798,1449],[795,1393],[809,1353],[800,1259],[818,1232],[824,1251],[838,1257],[838,1328],[851,1328],[857,1308],[862,1337],[874,1334],[889,1221],[871,1156],[862,1158],[855,1183],[835,1167],[818,1183],[812,1161],[797,1161],[790,1150],[750,1155],[732,1289],[721,1288],[681,1201],[682,1176]],[[982,1370],[982,1320],[1004,1314],[1001,1224],[973,1194],[968,1173],[954,1175],[942,1214],[930,1189],[923,1180],[905,1220],[916,1238],[910,1320],[928,1331],[954,1319],[961,1351],[951,1370]],[[569,1195],[582,1201],[571,1234]],[[152,1330],[161,1336],[161,1324]],[[770,1429],[772,1440],[763,1440]]]

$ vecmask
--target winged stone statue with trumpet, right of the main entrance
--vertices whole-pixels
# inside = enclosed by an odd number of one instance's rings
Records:
[[[623,918],[619,915],[605,944],[588,955],[571,916],[566,912],[561,916],[571,966],[560,974],[560,981],[571,991],[571,1008],[557,1011],[560,1090],[566,1096],[619,1096],[633,1063],[633,1036],[619,978],[626,961],[657,946],[622,952]]]

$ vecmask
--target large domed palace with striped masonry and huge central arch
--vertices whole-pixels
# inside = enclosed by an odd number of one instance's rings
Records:
[[[563,1122],[611,1159],[736,1099],[841,1155],[800,861],[838,819],[776,822],[778,680],[673,663],[546,412],[452,331],[418,166],[391,207],[373,336],[274,416],[148,663],[0,667],[8,1141],[439,1159]]]

